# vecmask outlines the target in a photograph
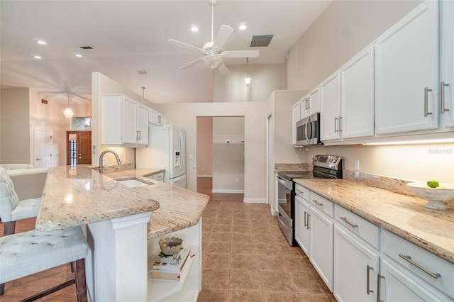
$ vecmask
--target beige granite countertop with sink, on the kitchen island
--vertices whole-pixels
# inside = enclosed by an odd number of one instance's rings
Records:
[[[204,194],[147,178],[162,169],[113,171],[101,175],[87,165],[51,168],[35,228],[59,230],[150,212],[148,237],[158,237],[196,225],[209,201]],[[150,185],[130,188],[116,181],[131,178]]]

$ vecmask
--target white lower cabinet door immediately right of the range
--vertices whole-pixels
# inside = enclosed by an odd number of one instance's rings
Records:
[[[295,196],[295,240],[309,257],[309,203]]]

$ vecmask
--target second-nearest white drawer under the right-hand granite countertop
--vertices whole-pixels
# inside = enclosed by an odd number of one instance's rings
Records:
[[[358,235],[362,240],[372,245],[372,247],[375,247],[377,250],[379,249],[380,228],[377,225],[370,223],[337,204],[334,206],[334,217],[337,220],[336,223],[345,226],[345,228]]]

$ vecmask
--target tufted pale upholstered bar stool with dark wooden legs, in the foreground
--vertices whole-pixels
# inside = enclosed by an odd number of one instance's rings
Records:
[[[72,284],[76,284],[78,301],[87,301],[84,264],[87,252],[87,240],[80,226],[55,231],[30,230],[0,237],[0,284],[73,263],[74,279],[29,297],[28,301]]]

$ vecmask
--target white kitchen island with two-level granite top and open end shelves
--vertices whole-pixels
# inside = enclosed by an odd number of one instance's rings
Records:
[[[201,213],[209,196],[154,181],[149,177],[155,169],[104,172],[86,165],[51,168],[35,228],[87,225],[92,301],[196,297],[201,289]],[[126,186],[120,182],[124,179],[145,185]],[[149,278],[148,259],[159,250],[157,242],[172,235],[191,245],[194,255],[185,283]]]

